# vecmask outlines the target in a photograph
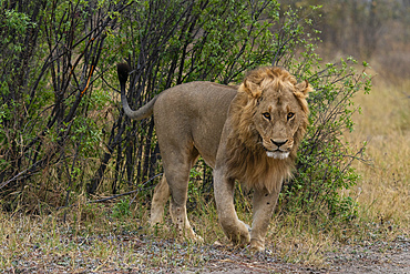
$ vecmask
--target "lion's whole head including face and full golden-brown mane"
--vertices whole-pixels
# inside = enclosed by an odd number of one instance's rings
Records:
[[[273,174],[285,179],[308,125],[307,81],[297,83],[286,70],[252,71],[230,104],[233,131],[228,164],[233,176],[263,184]],[[264,181],[264,182],[262,182]]]

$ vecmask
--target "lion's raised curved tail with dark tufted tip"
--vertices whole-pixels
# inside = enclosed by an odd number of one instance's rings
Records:
[[[116,65],[116,71],[119,73],[119,80],[120,80],[120,87],[121,87],[121,102],[122,102],[122,106],[124,109],[125,114],[130,119],[133,119],[133,120],[142,120],[142,119],[151,116],[154,111],[154,104],[155,104],[157,97],[155,97],[153,100],[151,100],[148,103],[146,103],[139,110],[136,111],[132,110],[130,108],[130,104],[125,95],[125,83],[126,83],[126,80],[129,79],[130,67],[126,63],[119,63]]]

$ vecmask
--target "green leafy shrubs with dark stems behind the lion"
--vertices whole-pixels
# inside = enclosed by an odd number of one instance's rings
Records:
[[[355,203],[339,191],[358,179],[350,168],[358,152],[341,134],[352,130],[352,95],[368,91],[370,82],[349,68],[351,59],[320,62],[318,7],[285,12],[276,0],[1,0],[0,6],[4,209],[64,206],[83,192],[152,189],[161,154],[153,120],[130,121],[122,111],[114,64],[125,60],[133,70],[127,94],[134,109],[183,82],[240,82],[259,65],[280,65],[307,79],[315,88],[311,125],[281,209],[353,214]],[[209,169],[201,161],[192,174],[202,183],[189,192],[208,197]]]

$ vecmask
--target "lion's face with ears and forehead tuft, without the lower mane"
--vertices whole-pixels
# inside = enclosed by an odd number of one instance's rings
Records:
[[[252,115],[247,122],[256,135],[253,142],[262,145],[267,156],[286,159],[294,150],[300,126],[306,129],[306,95],[310,89],[307,82],[296,84],[295,78],[280,69],[258,72],[257,77],[247,77],[239,88],[247,95],[243,113]]]

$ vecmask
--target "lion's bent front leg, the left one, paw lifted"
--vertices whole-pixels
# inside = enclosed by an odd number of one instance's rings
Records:
[[[247,225],[242,222],[235,211],[234,205],[235,180],[224,176],[221,171],[214,172],[214,193],[219,223],[225,235],[234,244],[242,246],[249,243],[249,232]]]

